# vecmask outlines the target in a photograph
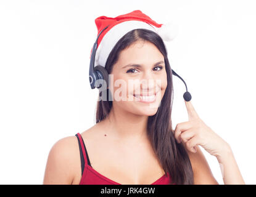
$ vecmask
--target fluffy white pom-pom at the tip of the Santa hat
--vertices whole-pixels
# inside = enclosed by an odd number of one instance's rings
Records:
[[[165,23],[157,29],[157,33],[163,41],[171,41],[178,35],[178,25],[171,22]]]

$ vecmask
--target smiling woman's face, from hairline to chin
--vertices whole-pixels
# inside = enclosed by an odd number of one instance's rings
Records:
[[[167,73],[164,57],[154,44],[137,41],[122,50],[110,78],[115,107],[136,115],[157,113],[167,87]]]

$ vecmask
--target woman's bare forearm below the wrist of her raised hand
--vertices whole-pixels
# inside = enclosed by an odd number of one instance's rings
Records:
[[[225,185],[245,185],[244,179],[242,179],[241,172],[234,159],[233,151],[231,147],[226,149],[220,156],[217,156],[218,163],[223,177]]]

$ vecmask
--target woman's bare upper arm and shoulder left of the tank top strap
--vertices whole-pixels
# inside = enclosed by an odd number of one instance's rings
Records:
[[[43,184],[72,184],[75,169],[74,140],[73,137],[65,137],[53,145],[47,159]]]

